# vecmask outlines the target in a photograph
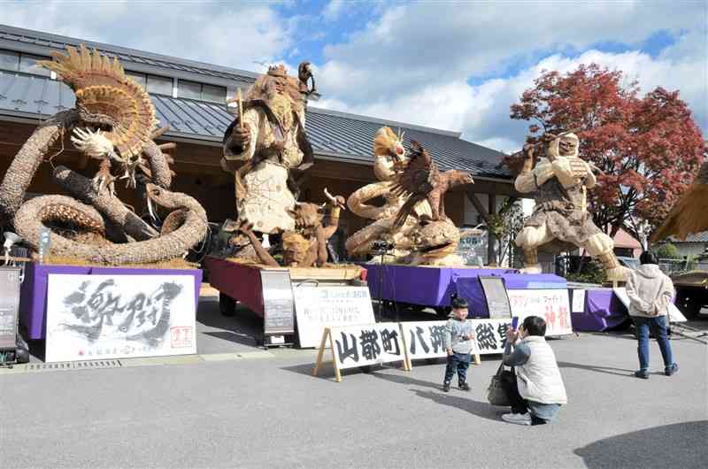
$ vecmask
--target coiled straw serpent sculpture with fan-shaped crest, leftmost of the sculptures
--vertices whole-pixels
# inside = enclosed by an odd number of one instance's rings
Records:
[[[117,59],[84,45],[80,50],[67,47],[67,52],[55,52],[54,61],[39,64],[73,89],[76,107],[43,122],[13,159],[0,183],[0,222],[12,224],[35,250],[41,228],[52,227],[52,256],[104,265],[152,264],[184,256],[204,238],[208,225],[204,208],[194,198],[168,189],[173,159],[162,150],[174,145],[158,145],[154,139],[169,127],[155,130],[150,96]],[[24,202],[50,146],[63,142],[66,134],[72,135],[77,150],[100,161],[96,177],[92,181],[58,166],[55,181],[75,198],[37,196]],[[122,172],[119,178],[112,174],[116,166]],[[129,188],[142,188],[150,213],[152,204],[172,211],[161,233],[114,196],[116,179],[126,179]],[[79,235],[66,235],[76,232]]]

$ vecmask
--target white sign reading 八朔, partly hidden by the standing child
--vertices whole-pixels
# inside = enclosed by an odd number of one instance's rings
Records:
[[[476,343],[473,354],[503,353],[506,331],[512,327],[511,319],[467,319],[473,324]],[[402,322],[408,358],[440,358],[447,355],[443,347],[447,321]]]

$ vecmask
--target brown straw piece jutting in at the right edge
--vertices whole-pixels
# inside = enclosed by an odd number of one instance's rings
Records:
[[[685,240],[688,235],[708,230],[708,161],[701,165],[696,180],[681,196],[664,224],[651,235],[652,242],[668,236]]]

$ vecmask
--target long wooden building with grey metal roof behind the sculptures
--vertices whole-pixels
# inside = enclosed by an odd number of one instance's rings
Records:
[[[235,219],[234,182],[219,164],[221,141],[233,119],[227,112],[227,96],[237,88],[248,88],[258,77],[231,67],[167,57],[100,42],[0,25],[0,173],[6,171],[19,147],[36,125],[58,111],[73,107],[70,88],[56,75],[35,66],[53,50],[85,43],[109,57],[118,58],[126,73],[147,89],[161,125],[170,130],[160,142],[177,142],[173,189],[195,196],[211,221]],[[404,131],[404,140],[421,142],[441,169],[473,173],[476,183],[448,194],[446,211],[458,225],[476,225],[488,212],[496,211],[504,196],[515,195],[512,175],[500,164],[504,154],[467,142],[457,132],[419,127],[402,122],[375,119],[310,106],[306,130],[312,142],[316,164],[304,186],[302,199],[324,200],[323,190],[349,196],[373,175],[373,136],[382,126]],[[81,158],[68,141],[57,149],[54,164],[79,163],[87,175],[90,162]],[[57,193],[44,165],[30,191]],[[128,203],[137,201],[120,194]],[[139,211],[139,209],[136,209]],[[366,220],[343,213],[341,240],[363,227]]]

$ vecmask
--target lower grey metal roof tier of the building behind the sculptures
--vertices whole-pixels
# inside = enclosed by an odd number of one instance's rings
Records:
[[[172,96],[151,95],[158,119],[169,124],[167,136],[194,141],[221,142],[234,119],[224,104]],[[42,119],[74,104],[71,88],[61,81],[17,72],[0,71],[0,114]],[[459,169],[477,176],[508,179],[511,173],[496,167],[503,153],[459,138],[458,133],[412,126],[383,119],[309,108],[307,135],[316,155],[352,162],[373,162],[372,145],[376,131],[384,125],[404,132],[404,143],[417,140],[441,169]]]

